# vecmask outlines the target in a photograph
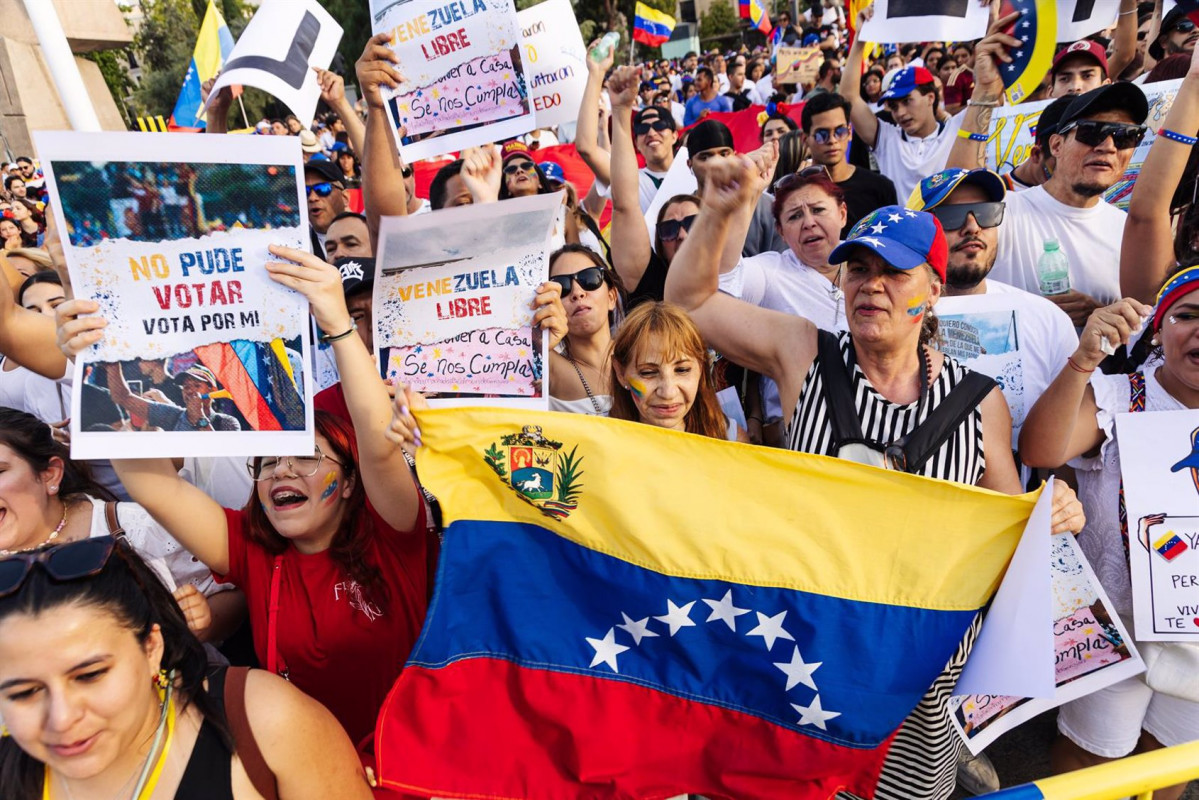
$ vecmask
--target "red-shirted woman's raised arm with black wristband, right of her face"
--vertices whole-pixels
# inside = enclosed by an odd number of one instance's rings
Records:
[[[411,530],[421,511],[421,495],[404,453],[381,435],[391,422],[391,397],[345,308],[341,273],[311,253],[277,245],[270,249],[287,259],[266,263],[271,278],[307,297],[317,325],[336,339],[333,357],[359,445],[357,477],[370,505],[396,530]],[[338,338],[343,332],[349,335]]]

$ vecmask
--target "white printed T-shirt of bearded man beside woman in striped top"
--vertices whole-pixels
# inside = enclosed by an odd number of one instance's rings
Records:
[[[1012,411],[1012,449],[1024,417],[1078,348],[1070,314],[1041,295],[996,281],[986,293],[941,297],[940,349],[958,363],[994,378]]]

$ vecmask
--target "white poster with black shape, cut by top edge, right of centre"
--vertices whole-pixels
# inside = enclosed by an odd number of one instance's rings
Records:
[[[969,42],[986,36],[989,23],[990,8],[977,0],[874,0],[860,36],[879,44]]]

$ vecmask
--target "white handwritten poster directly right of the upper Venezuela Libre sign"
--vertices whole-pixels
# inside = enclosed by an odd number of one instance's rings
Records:
[[[517,18],[537,127],[573,122],[588,85],[588,49],[571,0],[546,0]]]

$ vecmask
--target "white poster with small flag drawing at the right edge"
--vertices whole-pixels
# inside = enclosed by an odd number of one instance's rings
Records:
[[[1119,414],[1116,434],[1137,639],[1199,643],[1199,410]]]

